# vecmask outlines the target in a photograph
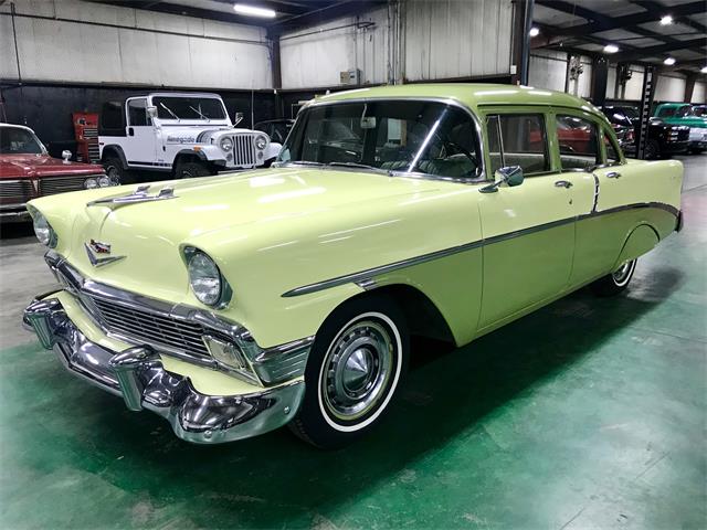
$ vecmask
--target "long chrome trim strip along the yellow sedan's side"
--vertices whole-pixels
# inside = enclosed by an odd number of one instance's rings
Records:
[[[583,221],[585,219],[595,218],[600,215],[606,215],[611,213],[618,213],[624,210],[635,210],[641,208],[657,208],[661,210],[665,210],[666,212],[672,213],[676,218],[679,215],[679,210],[673,206],[672,204],[666,204],[663,202],[640,202],[634,204],[624,204],[622,206],[611,208],[608,210],[597,211],[592,209],[589,213],[583,213],[581,215],[574,215],[571,218],[564,218],[557,221],[551,221],[549,223],[539,224],[536,226],[528,226],[527,229],[521,229],[513,232],[507,232],[504,234],[494,235],[492,237],[481,239],[477,241],[473,241],[469,243],[464,243],[461,245],[452,246],[449,248],[443,248],[440,251],[434,251],[428,254],[423,254],[421,256],[414,256],[407,259],[401,259],[399,262],[389,263],[386,265],[380,265],[372,268],[367,268],[365,271],[359,271],[356,273],[350,273],[341,276],[337,276],[335,278],[325,279],[321,282],[316,282],[314,284],[304,285],[302,287],[295,287],[286,293],[283,293],[281,296],[283,298],[289,298],[294,296],[308,295],[312,293],[317,293],[319,290],[328,289],[331,287],[337,287],[339,285],[345,285],[349,283],[357,283],[359,287],[363,289],[370,289],[371,286],[374,285],[374,277],[384,273],[389,273],[392,271],[399,271],[401,268],[411,267],[414,265],[420,265],[422,263],[431,262],[434,259],[440,259],[442,257],[447,257],[454,254],[458,254],[461,252],[471,251],[474,248],[479,248],[486,245],[493,245],[494,243],[500,243],[503,241],[513,240],[515,237],[520,237],[523,235],[532,234],[535,232],[541,232],[544,230],[553,229],[557,226],[561,226],[568,223],[574,223],[577,221]]]

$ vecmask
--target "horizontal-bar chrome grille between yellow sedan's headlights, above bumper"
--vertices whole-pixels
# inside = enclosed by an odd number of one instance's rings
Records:
[[[204,329],[199,324],[178,320],[152,311],[116,304],[97,296],[84,294],[95,309],[94,315],[108,332],[138,342],[165,346],[192,356],[211,359],[201,337]]]

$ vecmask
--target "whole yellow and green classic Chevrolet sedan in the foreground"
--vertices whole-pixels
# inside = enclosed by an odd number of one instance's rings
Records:
[[[284,424],[350,443],[420,335],[465,344],[584,285],[626,288],[679,230],[678,161],[524,86],[319,97],[273,168],[29,203],[61,290],[24,322],[76,375],[229,442]]]

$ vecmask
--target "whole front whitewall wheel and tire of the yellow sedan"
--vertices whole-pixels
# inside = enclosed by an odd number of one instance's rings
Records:
[[[291,430],[320,448],[361,437],[390,407],[409,351],[405,319],[392,299],[371,295],[341,306],[317,333]]]

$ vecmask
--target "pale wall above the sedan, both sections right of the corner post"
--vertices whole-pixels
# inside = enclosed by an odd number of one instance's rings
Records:
[[[407,0],[404,53],[395,65],[389,46],[397,23],[388,8],[285,33],[283,88],[336,86],[350,68],[361,70],[362,84],[388,82],[389,70],[410,82],[509,75],[511,19],[510,0]]]

